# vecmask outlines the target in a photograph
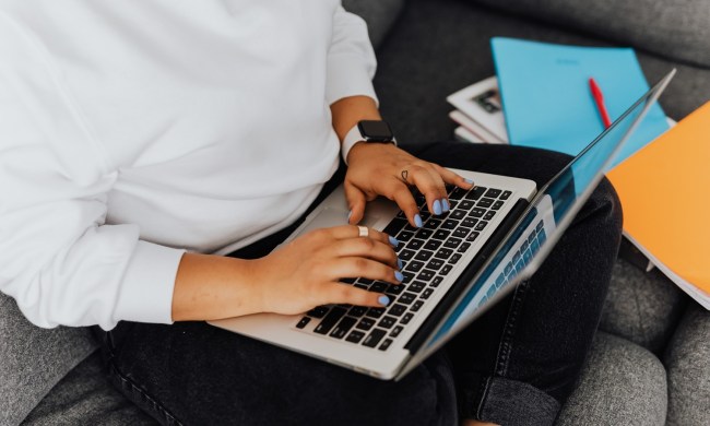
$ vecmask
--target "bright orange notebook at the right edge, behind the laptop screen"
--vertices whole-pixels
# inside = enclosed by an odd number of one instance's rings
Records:
[[[710,102],[607,177],[622,200],[625,235],[710,309]]]

